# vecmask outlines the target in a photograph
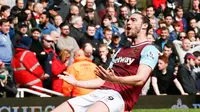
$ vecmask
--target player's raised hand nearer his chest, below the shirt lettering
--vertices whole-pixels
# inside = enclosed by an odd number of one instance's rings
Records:
[[[110,82],[117,82],[118,77],[115,75],[112,69],[105,70],[102,66],[96,67],[95,74],[99,76],[101,79],[110,81]]]

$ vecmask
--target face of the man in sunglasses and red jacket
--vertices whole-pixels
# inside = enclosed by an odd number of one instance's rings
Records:
[[[45,35],[43,37],[43,47],[45,49],[50,49],[53,44],[53,38],[50,35]]]

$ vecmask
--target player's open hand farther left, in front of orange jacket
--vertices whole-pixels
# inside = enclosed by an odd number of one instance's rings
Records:
[[[69,84],[76,86],[77,80],[75,79],[74,75],[69,74],[67,72],[63,72],[65,75],[58,75],[60,79],[68,82]]]

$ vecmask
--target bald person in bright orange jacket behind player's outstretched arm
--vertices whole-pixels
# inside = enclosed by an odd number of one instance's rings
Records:
[[[91,80],[98,78],[94,70],[96,65],[92,63],[90,58],[85,57],[82,50],[75,51],[74,63],[67,68],[69,74],[73,74],[77,80]],[[72,86],[67,82],[63,83],[63,94],[65,96],[80,96],[92,92],[93,89],[84,89]]]

